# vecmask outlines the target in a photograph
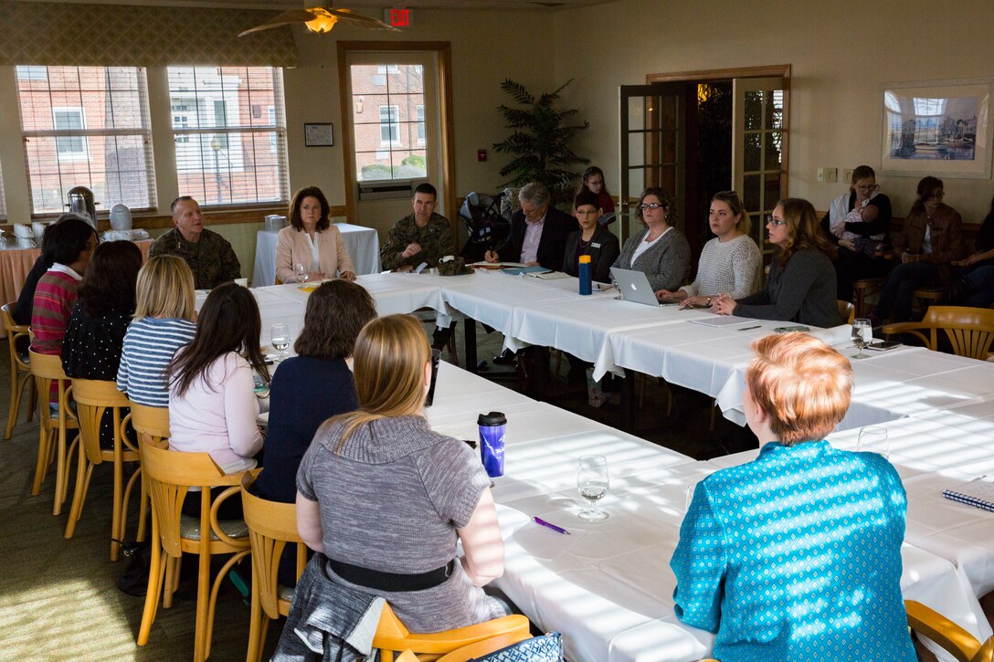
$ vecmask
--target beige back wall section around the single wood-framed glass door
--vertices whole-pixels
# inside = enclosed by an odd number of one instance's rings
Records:
[[[553,15],[547,12],[424,10],[415,12],[415,27],[403,33],[348,30],[311,35],[295,28],[300,66],[284,74],[286,121],[289,133],[290,190],[320,186],[333,205],[345,204],[342,118],[338,89],[338,40],[450,42],[453,115],[455,117],[456,196],[470,191],[494,192],[498,172],[507,161],[492,143],[507,131],[497,106],[507,101],[500,89],[505,78],[545,91],[555,83]],[[331,121],[335,146],[305,147],[304,122]],[[476,161],[486,149],[488,160]],[[355,220],[351,220],[355,222]],[[375,220],[358,220],[379,225]]]

